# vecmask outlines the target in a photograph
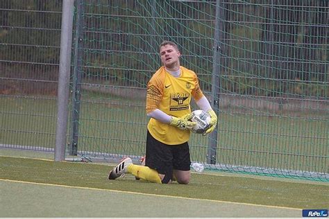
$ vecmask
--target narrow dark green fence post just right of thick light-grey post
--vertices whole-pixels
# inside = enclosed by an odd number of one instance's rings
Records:
[[[69,155],[78,154],[78,133],[81,103],[81,62],[83,53],[83,0],[76,1],[76,34],[74,37],[74,70],[72,87],[72,118]]]

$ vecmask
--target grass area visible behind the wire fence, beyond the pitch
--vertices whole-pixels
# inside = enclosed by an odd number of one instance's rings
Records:
[[[4,132],[0,133],[0,143],[55,146],[55,99],[2,99]],[[82,100],[78,150],[144,155],[148,121],[144,102],[96,92],[83,93]],[[304,112],[273,117],[223,110],[219,114],[217,163],[328,173],[328,129],[326,114]],[[193,161],[206,161],[208,140],[192,134],[189,144]]]

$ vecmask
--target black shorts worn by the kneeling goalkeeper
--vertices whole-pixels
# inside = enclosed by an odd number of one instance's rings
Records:
[[[173,170],[190,170],[189,144],[167,145],[152,137],[149,130],[146,137],[145,166],[162,175],[172,177]]]

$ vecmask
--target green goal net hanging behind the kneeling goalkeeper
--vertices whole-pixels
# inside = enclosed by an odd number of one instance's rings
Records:
[[[160,66],[158,45],[171,40],[208,98],[220,97],[217,164],[208,168],[327,177],[328,3],[221,3],[219,72],[213,71],[215,1],[85,1],[83,7],[81,72],[89,88],[81,114],[89,119],[80,126],[79,149],[144,155],[144,88]],[[219,92],[212,93],[212,86]],[[117,107],[91,107],[91,89],[97,101],[117,98]],[[208,144],[209,138],[192,135],[193,161],[207,164]]]

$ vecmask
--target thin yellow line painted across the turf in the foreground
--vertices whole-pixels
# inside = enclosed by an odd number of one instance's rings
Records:
[[[25,181],[19,181],[19,180],[11,180],[11,179],[0,179],[0,181],[44,185],[44,186],[59,186],[59,187],[65,187],[65,188],[71,188],[71,189],[89,189],[89,190],[96,190],[96,191],[111,191],[111,192],[115,192],[115,193],[149,195],[149,196],[164,197],[164,198],[180,198],[180,199],[185,199],[185,200],[199,200],[199,201],[209,201],[209,202],[218,202],[218,203],[227,203],[227,204],[244,204],[244,205],[253,206],[253,207],[269,207],[269,208],[274,208],[274,209],[302,210],[302,209],[296,209],[296,208],[291,208],[291,207],[280,207],[280,206],[271,206],[271,205],[264,205],[264,204],[251,204],[251,203],[244,203],[244,202],[228,202],[228,201],[221,201],[221,200],[201,199],[201,198],[185,198],[185,197],[178,197],[178,196],[172,196],[172,195],[157,195],[157,194],[149,194],[149,193],[137,193],[137,192],[132,192],[132,191],[118,191],[118,190],[112,190],[112,189],[97,189],[97,188],[90,188],[90,187],[66,186],[66,185],[60,185],[60,184],[47,184],[47,183],[40,183],[40,182],[25,182]]]

